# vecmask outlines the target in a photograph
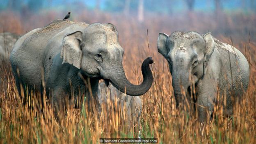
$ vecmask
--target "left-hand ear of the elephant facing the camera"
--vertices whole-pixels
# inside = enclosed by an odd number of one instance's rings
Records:
[[[166,41],[169,36],[165,33],[159,33],[158,36],[158,52],[162,54],[165,58],[167,57],[167,54],[169,53],[166,48]]]

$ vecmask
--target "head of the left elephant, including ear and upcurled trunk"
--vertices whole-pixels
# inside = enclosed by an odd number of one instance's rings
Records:
[[[153,82],[147,58],[142,64],[143,82],[141,85],[131,84],[124,73],[122,59],[124,50],[118,41],[118,32],[112,24],[93,23],[83,30],[67,34],[63,38],[61,58],[73,64],[91,78],[104,79],[117,89],[131,96],[146,93]]]

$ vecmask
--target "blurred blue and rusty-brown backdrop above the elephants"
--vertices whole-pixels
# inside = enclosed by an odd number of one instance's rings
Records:
[[[242,43],[256,42],[256,0],[0,0],[0,32],[23,35],[68,12],[70,21],[113,23],[126,54],[142,50],[139,61],[149,54],[148,39],[158,55],[160,32],[211,32],[242,52]]]

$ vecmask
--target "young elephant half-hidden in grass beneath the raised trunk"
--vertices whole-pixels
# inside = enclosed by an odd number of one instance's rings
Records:
[[[117,108],[121,109],[125,114],[125,121],[128,123],[128,126],[140,125],[139,117],[142,111],[142,100],[139,96],[129,96],[121,91],[119,91],[113,85],[109,85],[108,87],[104,82],[99,83],[98,87],[98,98],[100,104],[108,105],[106,107],[110,107],[109,105],[114,106],[114,103],[117,103]],[[111,114],[111,110],[107,110],[108,114]]]

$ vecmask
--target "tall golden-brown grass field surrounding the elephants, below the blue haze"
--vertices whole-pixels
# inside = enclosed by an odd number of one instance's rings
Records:
[[[0,13],[0,30],[25,34],[36,27],[62,18],[55,11],[42,12],[29,19],[7,11]],[[39,112],[37,94],[31,103],[23,106],[18,96],[15,80],[8,62],[0,61],[0,143],[99,143],[99,138],[137,137],[158,138],[159,143],[256,143],[256,15],[255,14],[213,14],[191,13],[175,16],[146,14],[144,23],[136,18],[122,15],[82,11],[71,16],[72,21],[87,23],[113,23],[119,31],[119,41],[125,54],[123,66],[128,80],[134,84],[142,82],[141,64],[146,57],[153,57],[154,82],[151,89],[141,96],[143,101],[141,126],[128,128],[124,124],[125,111],[102,111],[101,117],[88,112],[87,105],[81,109],[69,109],[62,121],[55,120],[53,107],[44,103]],[[148,30],[148,35],[147,35]],[[167,61],[157,52],[159,32],[171,34],[176,30],[194,30],[200,33],[212,32],[217,39],[234,45],[248,59],[250,83],[240,103],[233,103],[233,117],[222,117],[222,105],[215,106],[213,120],[200,124],[196,115],[180,113],[175,108],[171,75]],[[149,41],[148,41],[149,39]],[[149,43],[148,43],[149,42]],[[219,100],[222,101],[222,100]],[[34,108],[29,108],[32,106]],[[113,109],[115,105],[105,105]],[[108,116],[108,118],[104,118]]]

